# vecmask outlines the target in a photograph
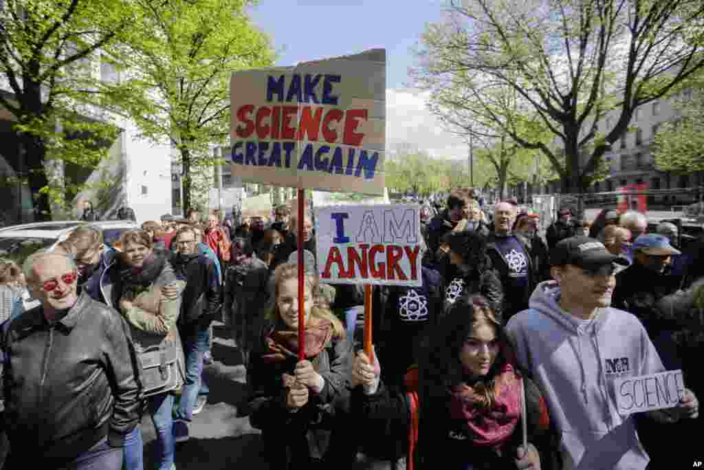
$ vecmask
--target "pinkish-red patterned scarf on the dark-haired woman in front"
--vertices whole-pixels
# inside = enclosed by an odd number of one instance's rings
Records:
[[[467,421],[474,444],[500,450],[513,434],[521,416],[521,380],[513,366],[505,364],[494,381],[496,402],[491,408],[482,406],[484,397],[470,385],[460,383],[453,387],[451,416]]]

